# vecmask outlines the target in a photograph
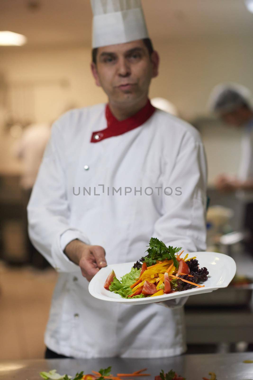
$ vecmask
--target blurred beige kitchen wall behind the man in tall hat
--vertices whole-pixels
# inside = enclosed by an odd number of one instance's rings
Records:
[[[154,44],[161,56],[161,67],[160,75],[151,85],[150,97],[171,100],[185,119],[207,114],[209,93],[219,82],[236,81],[253,90],[250,38],[154,41]],[[0,49],[0,73],[8,84],[9,107],[17,118],[25,112],[34,121],[51,122],[69,106],[106,101],[92,79],[90,57],[90,48],[83,46]],[[209,159],[209,183],[219,171],[235,173],[240,132],[204,122],[201,133]],[[2,145],[4,139],[2,131]],[[6,165],[11,169],[14,163],[5,151],[0,153],[0,170]]]

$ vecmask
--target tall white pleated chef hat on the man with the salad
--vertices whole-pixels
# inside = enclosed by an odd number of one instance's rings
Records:
[[[92,47],[148,38],[141,0],[91,0]]]

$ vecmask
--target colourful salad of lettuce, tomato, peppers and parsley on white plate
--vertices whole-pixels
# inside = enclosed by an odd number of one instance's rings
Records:
[[[151,237],[147,255],[137,261],[121,280],[112,271],[104,288],[120,294],[122,298],[131,299],[204,287],[200,283],[208,279],[208,270],[199,268],[195,256],[188,258],[189,253],[183,256],[181,249],[167,247],[161,240]]]

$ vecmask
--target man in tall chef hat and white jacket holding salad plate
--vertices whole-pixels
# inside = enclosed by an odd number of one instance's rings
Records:
[[[55,122],[28,205],[30,238],[59,272],[46,357],[179,355],[185,297],[123,305],[88,284],[106,264],[139,260],[150,237],[205,250],[205,152],[191,125],[148,99],[159,58],[141,2],[94,0],[92,10],[92,74],[108,103]]]

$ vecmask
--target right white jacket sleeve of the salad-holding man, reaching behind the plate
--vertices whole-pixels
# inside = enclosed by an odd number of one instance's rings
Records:
[[[167,165],[169,166],[169,165]],[[163,195],[163,215],[156,221],[152,236],[167,246],[182,247],[187,252],[206,249],[206,182],[205,150],[198,137],[186,133],[172,171],[164,170],[163,187],[180,187],[181,195]],[[168,185],[169,184],[169,185]],[[167,190],[170,193],[170,190]],[[161,302],[177,308],[188,297]]]

